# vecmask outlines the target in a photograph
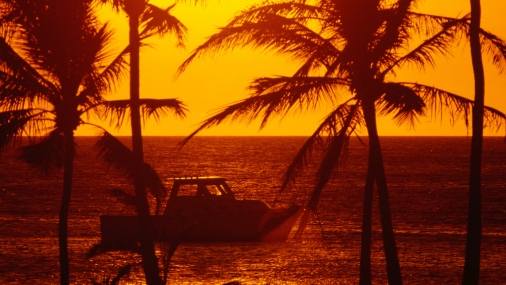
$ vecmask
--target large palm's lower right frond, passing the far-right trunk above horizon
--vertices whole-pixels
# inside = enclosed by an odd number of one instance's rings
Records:
[[[414,91],[427,105],[431,111],[431,118],[443,119],[443,113],[450,115],[450,123],[463,119],[466,126],[469,127],[473,100],[455,95],[453,93],[417,83],[400,83]],[[504,113],[485,106],[484,110],[484,128],[495,129],[496,132],[504,126],[506,127],[506,115]],[[505,129],[506,130],[506,129]]]

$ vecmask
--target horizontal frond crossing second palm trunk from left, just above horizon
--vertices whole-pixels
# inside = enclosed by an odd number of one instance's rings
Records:
[[[170,113],[175,116],[184,118],[186,116],[185,104],[178,99],[139,99],[142,119],[144,123],[149,117],[154,117],[157,123],[159,123],[161,117],[166,117]],[[119,128],[123,122],[128,121],[130,117],[130,100],[114,100],[104,101],[102,106],[104,107],[104,117],[110,116],[111,124],[116,122],[116,127]]]

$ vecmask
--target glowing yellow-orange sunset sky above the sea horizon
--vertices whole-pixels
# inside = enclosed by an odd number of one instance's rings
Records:
[[[148,121],[143,135],[148,136],[186,136],[195,125],[202,121],[209,111],[223,105],[247,97],[245,90],[251,79],[271,75],[291,75],[298,64],[289,62],[286,58],[272,53],[258,51],[235,50],[215,59],[197,60],[192,63],[176,82],[174,73],[178,66],[187,58],[189,53],[204,42],[206,36],[213,34],[218,26],[223,26],[237,11],[248,5],[257,3],[257,0],[208,0],[208,5],[179,3],[173,9],[173,15],[180,19],[188,28],[188,41],[186,50],[175,47],[175,40],[171,36],[163,39],[152,38],[148,43],[154,44],[154,49],[147,48],[141,52],[141,97],[142,98],[179,98],[188,105],[189,112],[184,120],[167,117],[156,124],[154,119]],[[167,7],[172,1],[151,0],[151,4]],[[426,0],[420,5],[424,13],[457,17],[470,11],[469,1],[437,1]],[[111,22],[115,28],[117,49],[128,44],[128,24],[124,15],[115,15],[102,10],[102,18]],[[506,25],[503,15],[506,12],[506,1],[482,0],[482,27],[496,35],[506,38]],[[486,58],[486,57],[484,57]],[[506,112],[506,74],[498,75],[497,70],[485,64],[485,104]],[[403,70],[398,74],[398,80],[423,83],[461,96],[473,98],[474,79],[471,66],[469,45],[455,50],[454,56],[440,58],[437,61],[437,70],[419,72],[415,69]],[[108,99],[129,98],[128,79]],[[273,120],[264,130],[259,131],[258,124],[246,126],[240,123],[224,124],[210,130],[203,131],[201,135],[311,135],[318,126],[318,122],[326,115],[328,109],[316,113],[298,114],[288,116],[281,122]],[[430,118],[422,117],[415,130],[406,130],[405,127],[396,126],[388,117],[378,118],[378,131],[380,135],[433,135],[446,136],[467,135],[467,129],[462,122],[451,128],[449,116],[443,117],[433,123]],[[104,125],[104,124],[101,124]],[[504,135],[504,129],[499,133],[485,130],[485,135]],[[130,135],[130,126],[125,125],[117,131],[109,128],[114,135]],[[94,135],[96,130],[81,127],[76,135]]]

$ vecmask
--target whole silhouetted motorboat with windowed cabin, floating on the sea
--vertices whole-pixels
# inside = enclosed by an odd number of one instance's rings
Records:
[[[173,187],[162,215],[150,216],[159,241],[286,241],[303,209],[272,209],[261,200],[237,199],[218,176],[168,179]],[[138,239],[135,215],[100,216],[103,240]]]

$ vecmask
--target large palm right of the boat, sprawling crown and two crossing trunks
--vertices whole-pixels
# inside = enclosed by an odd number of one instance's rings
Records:
[[[473,101],[434,87],[391,80],[405,64],[420,68],[434,65],[434,56],[447,54],[469,31],[469,17],[455,19],[413,11],[416,1],[315,0],[279,1],[255,5],[237,14],[210,36],[181,65],[179,73],[196,58],[221,50],[251,46],[287,54],[303,64],[292,76],[264,77],[250,85],[252,95],[209,117],[187,138],[223,123],[262,118],[261,128],[275,115],[334,106],[316,132],[303,145],[284,177],[281,191],[290,187],[314,149],[324,152],[315,188],[307,207],[315,211],[320,193],[346,151],[348,139],[365,126],[369,136],[369,159],[364,191],[360,283],[369,284],[371,205],[376,184],[389,283],[401,284],[388,188],[376,129],[376,112],[393,114],[396,123],[414,126],[429,110],[438,115],[448,110],[452,119],[466,123]],[[410,39],[424,42],[410,47]],[[484,50],[494,64],[506,66],[506,44],[480,30]],[[406,52],[407,51],[407,52]],[[178,73],[178,74],[179,74]],[[503,113],[485,109],[487,122],[496,126]],[[310,211],[303,216],[307,222]]]

